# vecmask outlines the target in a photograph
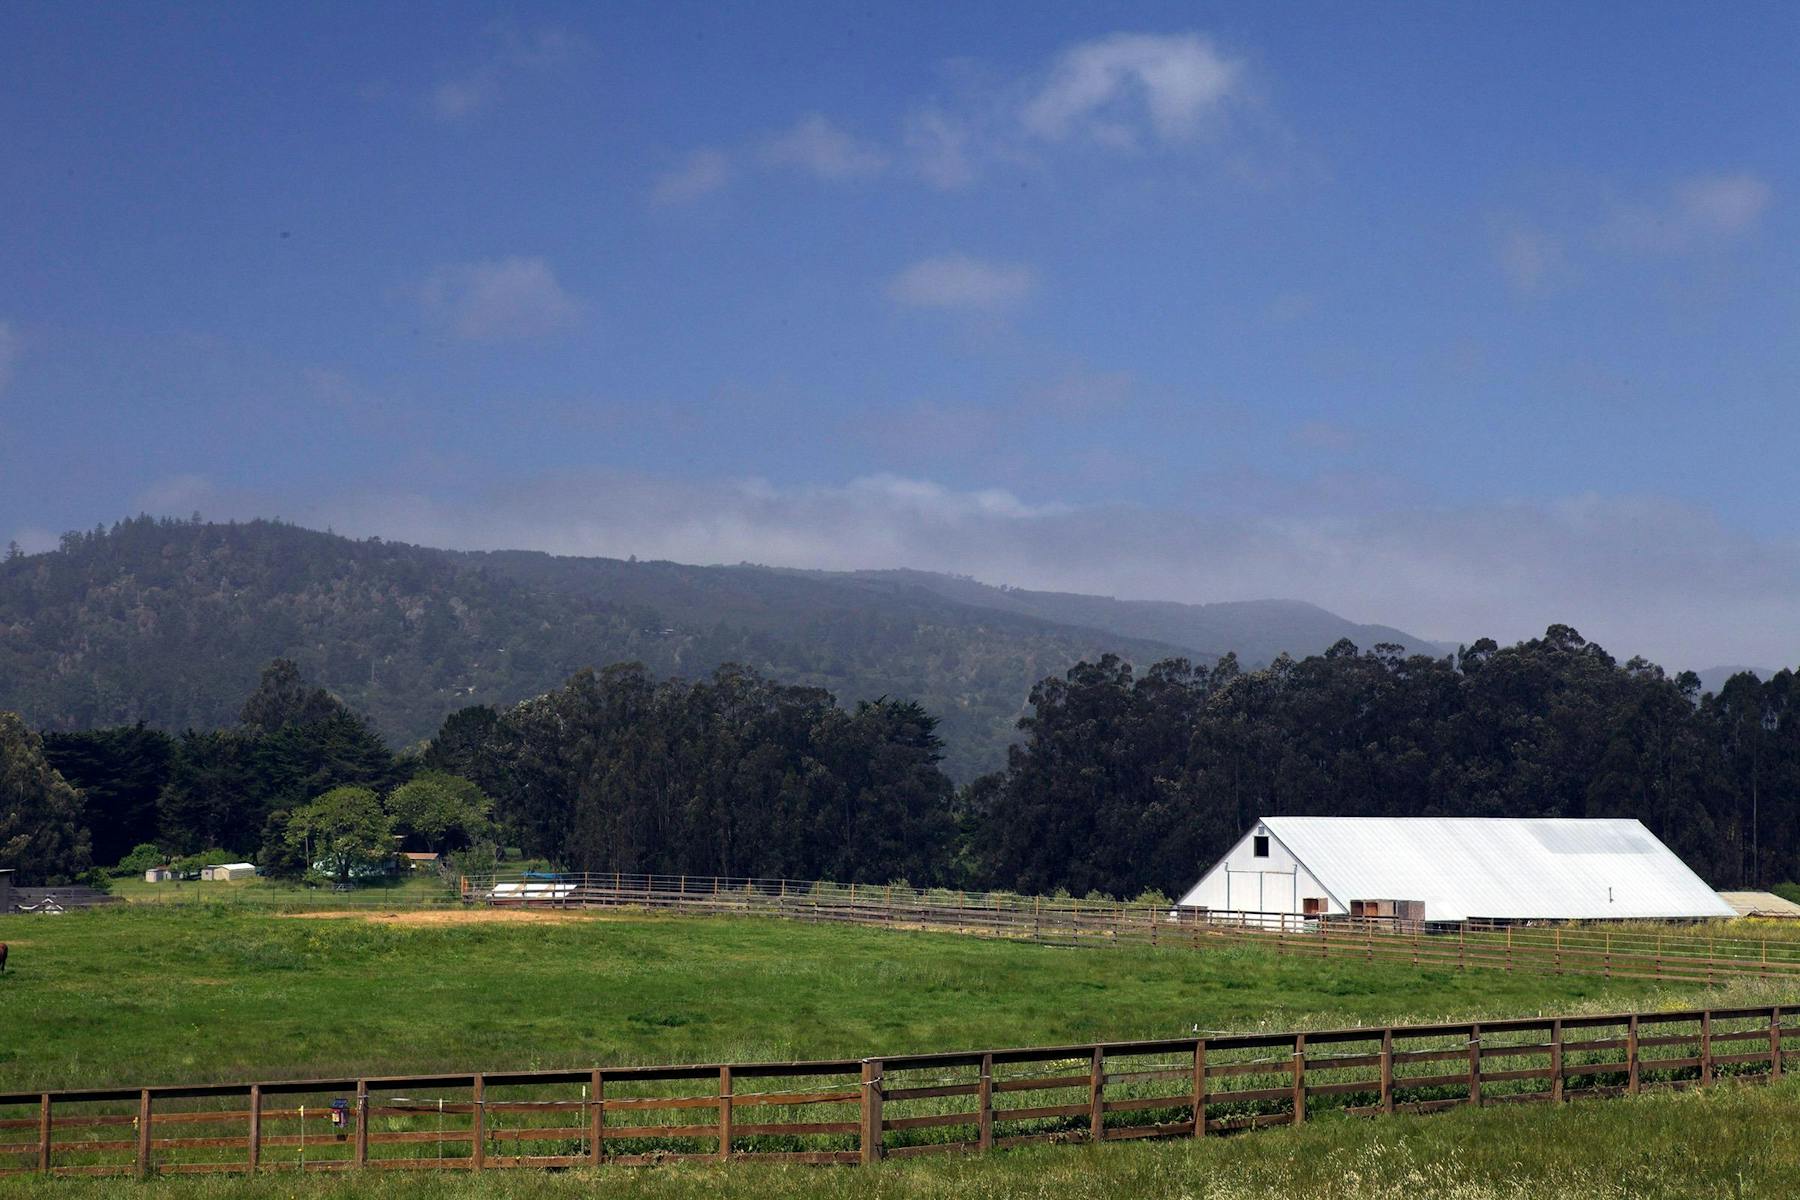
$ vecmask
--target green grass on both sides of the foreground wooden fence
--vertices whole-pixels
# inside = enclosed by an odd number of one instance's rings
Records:
[[[230,889],[232,885],[223,885]],[[1593,977],[1418,972],[1204,952],[698,918],[398,921],[272,910],[254,889],[0,919],[0,1090],[418,1070],[754,1061],[1183,1036],[1256,1027],[1800,1002]],[[376,916],[385,916],[376,909]],[[1204,1144],[916,1160],[351,1180],[175,1180],[178,1196],[1787,1195],[1800,1092],[1325,1119]],[[1649,1130],[1654,1130],[1651,1133]],[[1685,1166],[1683,1166],[1685,1164]],[[1742,1175],[1742,1178],[1739,1178]],[[99,1187],[106,1191],[101,1193]],[[0,1196],[130,1184],[11,1180]],[[1733,1191],[1741,1187],[1741,1191]],[[1791,1191],[1791,1189],[1787,1189]]]

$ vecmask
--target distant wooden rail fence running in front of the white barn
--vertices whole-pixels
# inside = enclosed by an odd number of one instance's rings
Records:
[[[1453,970],[1715,984],[1800,979],[1800,939],[1721,937],[1705,925],[1528,925],[1408,921],[1175,909],[1168,903],[959,892],[887,883],[689,874],[515,873],[464,876],[466,903],[518,909],[653,909],[697,916],[949,930],[1053,945],[1208,948],[1255,943],[1276,954]]]

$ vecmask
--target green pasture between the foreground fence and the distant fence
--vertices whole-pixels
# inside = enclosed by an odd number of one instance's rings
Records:
[[[373,919],[371,919],[373,918]],[[1267,948],[1053,948],[792,921],[232,903],[0,919],[9,1088],[857,1058],[1201,1031],[1791,1002]]]

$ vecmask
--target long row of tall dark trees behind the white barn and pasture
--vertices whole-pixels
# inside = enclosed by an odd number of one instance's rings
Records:
[[[216,846],[297,874],[338,837],[572,871],[1132,896],[1184,889],[1258,817],[1310,813],[1636,817],[1715,885],[1800,878],[1800,680],[1703,696],[1568,626],[1442,658],[1339,642],[1260,671],[1109,655],[1039,682],[1019,732],[1003,770],[954,788],[911,700],[846,709],[742,667],[623,664],[461,709],[394,754],[277,662],[230,729],[40,738],[0,720],[0,865],[72,878],[144,844]]]

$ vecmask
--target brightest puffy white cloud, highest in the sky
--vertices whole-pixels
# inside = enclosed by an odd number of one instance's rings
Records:
[[[1244,65],[1201,34],[1120,32],[1066,50],[1021,119],[1049,140],[1136,144],[1147,115],[1159,139],[1177,140],[1217,117],[1244,79]]]

